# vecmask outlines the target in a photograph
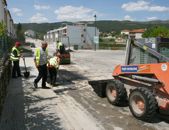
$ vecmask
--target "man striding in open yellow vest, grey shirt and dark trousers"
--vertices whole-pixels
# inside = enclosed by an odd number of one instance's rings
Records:
[[[42,79],[42,88],[46,87],[47,81],[47,63],[48,63],[48,49],[47,49],[47,42],[42,42],[40,48],[35,49],[35,57],[34,62],[35,66],[39,71],[38,76],[34,80],[34,87],[38,87],[38,82]]]

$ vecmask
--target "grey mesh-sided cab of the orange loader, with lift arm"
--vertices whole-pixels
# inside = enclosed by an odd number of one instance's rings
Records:
[[[140,45],[137,46],[136,43]],[[126,65],[160,63],[159,57],[147,48],[169,58],[169,38],[129,39],[126,46]]]

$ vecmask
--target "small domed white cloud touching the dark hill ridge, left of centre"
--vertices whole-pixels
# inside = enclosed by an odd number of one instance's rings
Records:
[[[43,22],[48,22],[48,19],[43,16],[41,13],[36,13],[30,18],[31,23],[43,23]]]

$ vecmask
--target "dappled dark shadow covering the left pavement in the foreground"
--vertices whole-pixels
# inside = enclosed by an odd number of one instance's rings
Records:
[[[57,97],[32,96],[31,82],[24,78],[11,79],[1,116],[1,130],[62,130],[60,118],[40,105]],[[31,90],[31,91],[29,91]],[[50,102],[49,102],[50,103]],[[57,104],[50,104],[56,107]]]

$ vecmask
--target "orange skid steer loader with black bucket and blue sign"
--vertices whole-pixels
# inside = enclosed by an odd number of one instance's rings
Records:
[[[160,110],[169,112],[169,39],[129,40],[125,65],[117,65],[113,77],[89,84],[113,105],[128,101],[137,119],[150,121]]]

